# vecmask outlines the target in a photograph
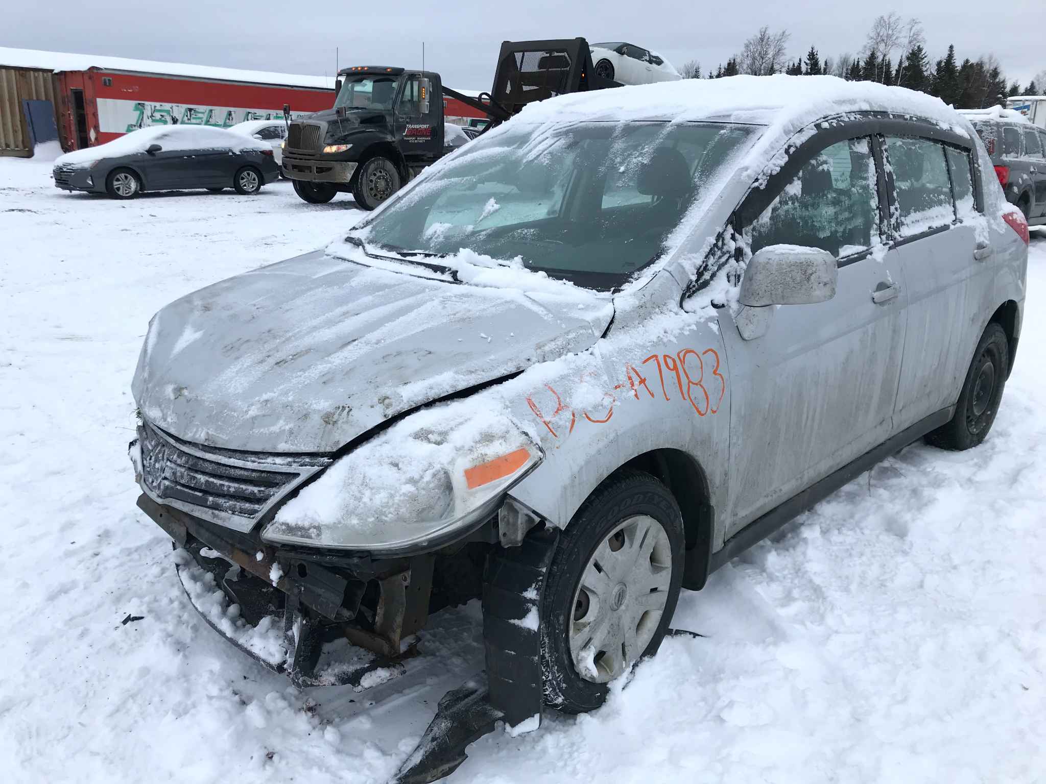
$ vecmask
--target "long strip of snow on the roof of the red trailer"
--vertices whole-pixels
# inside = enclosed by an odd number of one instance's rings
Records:
[[[110,71],[164,73],[173,76],[249,82],[259,85],[287,85],[290,87],[311,87],[320,90],[334,89],[333,76],[246,71],[238,68],[218,68],[215,66],[190,65],[188,63],[163,63],[155,60],[112,57],[108,54],[74,54],[61,51],[42,51],[40,49],[12,49],[3,46],[0,46],[0,66],[46,68],[50,71],[86,71],[89,68],[101,68]]]

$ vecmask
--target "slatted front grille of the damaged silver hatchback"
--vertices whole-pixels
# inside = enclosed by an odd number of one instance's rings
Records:
[[[332,460],[217,449],[182,441],[151,424],[138,428],[142,483],[156,500],[218,523],[255,521],[267,507]],[[233,457],[234,456],[234,457]],[[293,462],[292,462],[293,461]],[[243,528],[243,523],[235,526]]]

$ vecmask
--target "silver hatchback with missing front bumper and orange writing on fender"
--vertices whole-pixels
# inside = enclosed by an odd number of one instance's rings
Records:
[[[499,715],[588,711],[681,589],[918,438],[984,439],[1027,241],[926,95],[546,100],[325,250],[160,310],[139,506],[212,625],[298,683],[359,683],[325,640],[393,667],[482,598]]]

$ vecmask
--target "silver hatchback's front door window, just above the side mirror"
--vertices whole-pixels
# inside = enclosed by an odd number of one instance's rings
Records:
[[[833,144],[814,156],[751,226],[752,252],[801,245],[843,259],[879,238],[879,195],[870,139]]]

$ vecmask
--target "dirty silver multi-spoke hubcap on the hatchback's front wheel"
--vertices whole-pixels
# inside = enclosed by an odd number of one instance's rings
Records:
[[[672,545],[653,517],[619,523],[596,548],[574,592],[568,641],[586,681],[624,672],[654,639],[672,583]]]

